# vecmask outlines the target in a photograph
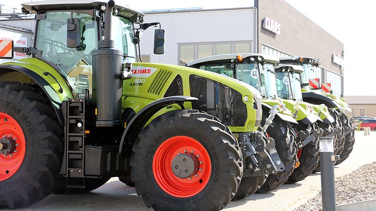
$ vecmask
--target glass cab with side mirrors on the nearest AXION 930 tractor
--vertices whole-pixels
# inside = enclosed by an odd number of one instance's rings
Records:
[[[23,13],[36,15],[35,39],[30,48],[14,51],[26,51],[54,67],[69,83],[74,96],[82,97],[89,90],[92,98],[92,53],[105,39],[106,4],[88,0],[22,4]],[[141,31],[159,23],[143,24],[144,14],[126,7],[114,5],[112,11],[109,39],[114,40],[113,48],[120,51],[123,63],[136,62]],[[155,46],[163,41],[163,33],[159,24]],[[161,48],[163,44],[155,48],[155,53],[163,53]]]

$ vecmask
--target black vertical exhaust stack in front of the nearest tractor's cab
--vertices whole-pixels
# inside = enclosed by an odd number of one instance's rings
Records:
[[[104,40],[98,42],[98,49],[92,52],[93,74],[95,75],[93,98],[97,107],[96,126],[110,127],[121,125],[121,65],[123,55],[114,49],[111,40],[111,20],[114,1],[109,1],[105,14]]]

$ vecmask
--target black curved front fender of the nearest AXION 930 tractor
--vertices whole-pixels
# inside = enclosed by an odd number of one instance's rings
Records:
[[[159,110],[162,108],[171,105],[171,104],[179,104],[182,109],[184,102],[192,102],[197,101],[198,99],[195,97],[190,96],[171,96],[158,99],[154,102],[149,103],[147,106],[142,108],[137,114],[131,119],[131,121],[127,124],[126,129],[124,130],[121,142],[119,146],[119,153],[120,155],[128,155],[130,156],[130,152],[126,152],[127,145],[133,145],[135,143],[138,135],[140,134],[141,130],[144,128],[146,123],[149,119]],[[128,148],[131,149],[131,148]]]

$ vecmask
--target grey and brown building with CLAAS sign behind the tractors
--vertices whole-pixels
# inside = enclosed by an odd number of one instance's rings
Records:
[[[153,54],[154,31],[141,39],[143,61],[184,65],[224,53],[266,53],[319,58],[316,78],[343,94],[343,43],[283,0],[255,1],[255,7],[145,12],[145,22],[160,22],[165,54]]]

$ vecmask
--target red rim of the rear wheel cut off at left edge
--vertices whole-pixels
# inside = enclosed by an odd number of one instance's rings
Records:
[[[0,181],[12,177],[20,168],[26,152],[25,136],[18,122],[0,112]],[[12,150],[9,151],[9,149]],[[5,153],[7,152],[8,153]]]

